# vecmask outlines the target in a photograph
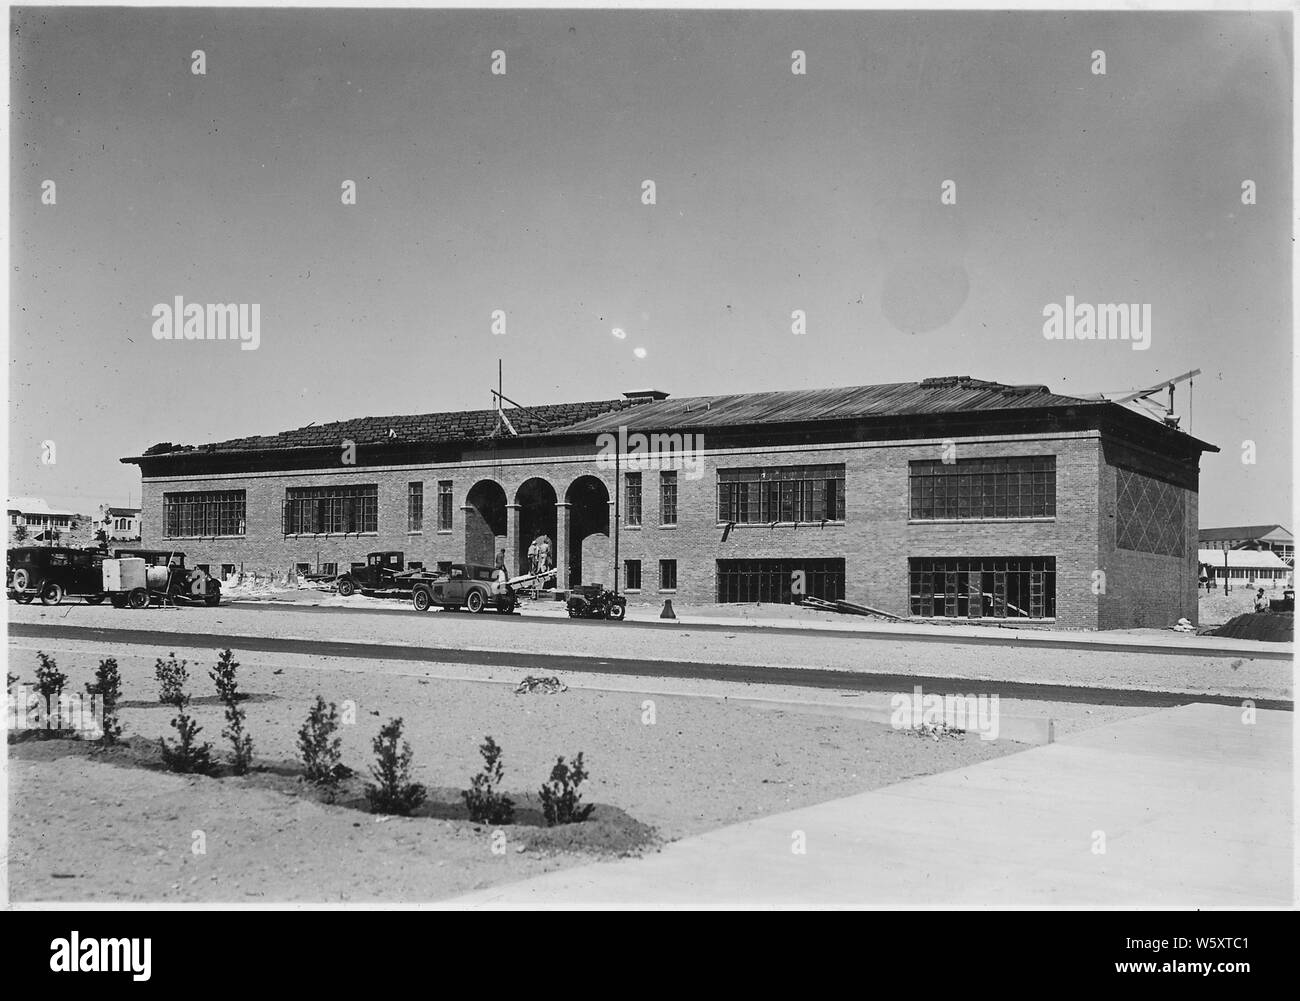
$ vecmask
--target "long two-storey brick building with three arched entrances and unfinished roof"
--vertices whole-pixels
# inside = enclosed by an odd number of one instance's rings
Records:
[[[213,572],[389,549],[430,568],[504,549],[519,572],[545,534],[560,588],[618,569],[632,601],[802,592],[1106,629],[1196,620],[1202,451],[1114,403],[946,377],[364,417],[122,462],[144,545]]]

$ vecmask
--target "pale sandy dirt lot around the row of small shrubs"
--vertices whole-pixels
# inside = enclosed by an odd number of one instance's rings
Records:
[[[127,734],[170,734],[172,710],[156,702],[156,651],[82,647],[57,654],[72,688],[79,690],[98,656],[112,653],[124,677]],[[212,693],[207,668],[214,659],[216,651],[191,663],[191,694]],[[343,762],[352,768],[368,766],[370,740],[396,715],[415,751],[413,779],[430,786],[465,786],[480,767],[485,734],[504,749],[503,788],[512,794],[536,790],[556,755],[581,750],[592,774],[584,798],[625,810],[663,838],[1022,748],[974,734],[933,741],[793,710],[759,714],[715,698],[576,688],[516,696],[519,672],[511,672],[511,684],[485,684],[389,673],[364,662],[239,659],[240,686],[254,696],[246,708],[259,757],[296,757],[296,731],[320,693],[344,710],[355,706],[355,722],[341,732]],[[10,647],[10,672],[30,681],[34,668],[34,654]],[[222,750],[220,706],[204,701],[192,711],[204,728],[200,738]],[[117,767],[92,757],[10,753],[8,766],[16,901],[425,901],[592,861],[520,852],[512,837],[519,832],[510,828],[507,850],[494,853],[493,832],[482,826],[377,818],[237,779]]]

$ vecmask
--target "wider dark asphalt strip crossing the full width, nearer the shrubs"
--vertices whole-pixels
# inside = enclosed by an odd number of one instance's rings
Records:
[[[503,620],[504,616],[502,616]],[[536,621],[536,620],[530,620]],[[568,620],[562,620],[568,624]],[[684,663],[642,658],[602,658],[578,654],[542,654],[533,651],[467,650],[460,647],[413,646],[399,644],[359,644],[338,640],[291,640],[281,637],[240,636],[237,633],[186,633],[156,629],[116,629],[61,623],[9,623],[9,634],[27,638],[65,638],[125,644],[133,646],[231,647],[250,653],[315,654],[363,660],[416,660],[442,664],[486,664],[523,668],[533,673],[624,675],[640,677],[703,679],[708,681],[741,681],[757,685],[796,685],[846,692],[910,692],[920,685],[935,694],[998,696],[1001,698],[1036,699],[1043,702],[1082,702],[1102,706],[1170,707],[1192,702],[1240,706],[1240,696],[1188,694],[1186,692],[1144,692],[1135,689],[1091,688],[1079,685],[1045,685],[1023,681],[976,681],[950,677],[928,677],[915,673],[885,675],[854,671],[829,671],[807,667],[760,667],[723,663]],[[1254,699],[1258,708],[1291,711],[1288,699]]]

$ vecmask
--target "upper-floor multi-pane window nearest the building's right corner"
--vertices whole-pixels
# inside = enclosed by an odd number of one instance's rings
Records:
[[[909,463],[913,521],[1056,517],[1056,456]]]

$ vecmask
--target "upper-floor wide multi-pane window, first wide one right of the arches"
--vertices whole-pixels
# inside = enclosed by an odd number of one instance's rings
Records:
[[[842,521],[844,464],[719,469],[718,520],[738,525]]]

